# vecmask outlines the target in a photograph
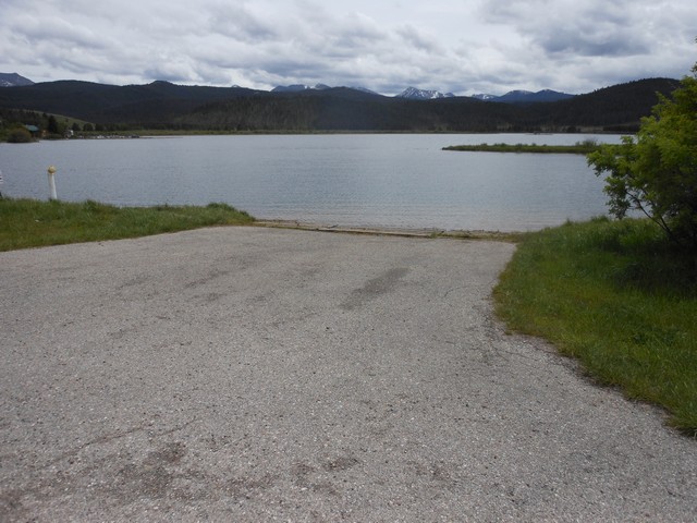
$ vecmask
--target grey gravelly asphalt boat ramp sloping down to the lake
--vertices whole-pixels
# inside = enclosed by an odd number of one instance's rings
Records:
[[[496,319],[514,250],[0,253],[0,521],[695,521],[697,441]]]

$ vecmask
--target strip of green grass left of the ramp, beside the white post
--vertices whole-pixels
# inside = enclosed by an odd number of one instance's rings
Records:
[[[210,226],[243,224],[249,215],[227,204],[206,207],[115,207],[0,198],[0,251],[120,240]]]

